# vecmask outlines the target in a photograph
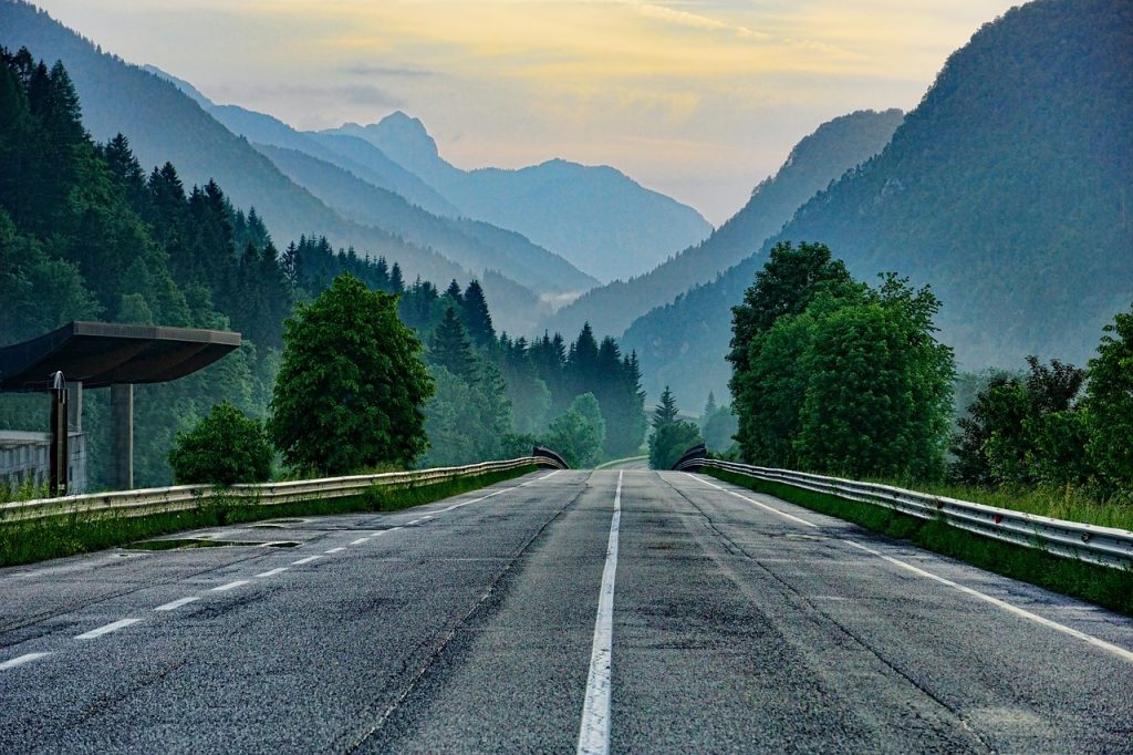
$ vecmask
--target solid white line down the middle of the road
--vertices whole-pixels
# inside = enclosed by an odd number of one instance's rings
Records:
[[[614,516],[610,520],[606,567],[602,570],[598,616],[594,621],[594,648],[590,675],[586,680],[582,722],[578,730],[579,755],[605,755],[610,752],[610,685],[614,641],[614,576],[617,572],[617,531],[622,520],[622,473],[614,491]]]

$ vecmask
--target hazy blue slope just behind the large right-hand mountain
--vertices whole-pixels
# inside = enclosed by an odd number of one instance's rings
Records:
[[[547,326],[573,332],[589,322],[600,332],[620,333],[637,316],[672,302],[690,286],[713,280],[757,252],[807,200],[880,152],[901,119],[900,110],[870,110],[823,124],[799,142],[778,172],[760,181],[743,209],[705,241],[645,275],[587,291],[555,313]]]

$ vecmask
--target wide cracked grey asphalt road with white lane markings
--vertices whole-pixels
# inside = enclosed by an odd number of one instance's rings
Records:
[[[707,476],[204,534],[0,570],[0,752],[1133,752],[1133,621]]]

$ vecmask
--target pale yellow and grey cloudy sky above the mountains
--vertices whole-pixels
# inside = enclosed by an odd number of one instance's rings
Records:
[[[33,0],[34,1],[34,0]],[[1000,0],[39,0],[130,62],[300,129],[420,118],[461,168],[610,164],[734,214],[791,147],[917,105]]]

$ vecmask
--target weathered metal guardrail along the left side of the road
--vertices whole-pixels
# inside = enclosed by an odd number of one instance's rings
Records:
[[[188,511],[213,500],[223,499],[244,506],[273,506],[293,501],[330,500],[360,495],[372,486],[404,487],[474,477],[492,472],[510,472],[525,466],[556,467],[552,459],[522,457],[506,461],[484,461],[462,467],[437,467],[411,472],[387,472],[376,475],[324,477],[293,482],[241,484],[224,489],[210,485],[174,485],[110,493],[90,493],[66,498],[45,498],[0,504],[0,523],[32,521],[71,515],[113,514],[139,517],[151,514]]]

